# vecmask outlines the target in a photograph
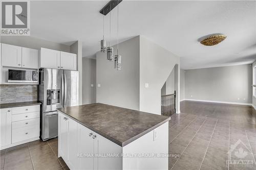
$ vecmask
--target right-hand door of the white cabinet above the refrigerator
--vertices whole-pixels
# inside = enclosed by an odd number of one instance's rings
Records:
[[[60,52],[60,68],[61,69],[69,69],[76,70],[76,54]]]

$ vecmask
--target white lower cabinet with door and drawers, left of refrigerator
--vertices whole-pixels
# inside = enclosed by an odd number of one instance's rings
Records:
[[[39,139],[40,106],[0,109],[1,150]]]

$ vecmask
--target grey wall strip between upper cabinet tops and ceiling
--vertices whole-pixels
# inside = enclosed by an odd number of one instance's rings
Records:
[[[40,50],[41,47],[70,52],[70,46],[31,36],[1,36],[1,42]]]

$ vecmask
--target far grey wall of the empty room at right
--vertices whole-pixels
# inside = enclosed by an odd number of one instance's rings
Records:
[[[185,98],[251,104],[251,70],[251,64],[186,70]]]

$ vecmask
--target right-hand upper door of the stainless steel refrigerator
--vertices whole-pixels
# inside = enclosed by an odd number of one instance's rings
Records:
[[[79,72],[64,70],[63,107],[77,106],[79,95]]]

